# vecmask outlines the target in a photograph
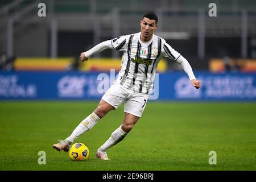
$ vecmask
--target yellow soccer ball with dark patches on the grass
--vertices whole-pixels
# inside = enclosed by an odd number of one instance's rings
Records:
[[[69,149],[68,154],[71,160],[87,160],[89,158],[89,149],[84,143],[75,143]]]

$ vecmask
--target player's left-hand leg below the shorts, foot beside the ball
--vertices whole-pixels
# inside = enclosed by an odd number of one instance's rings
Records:
[[[92,127],[96,125],[101,118],[103,118],[110,110],[113,109],[115,109],[115,107],[108,104],[108,102],[101,100],[97,109],[82,120],[82,122],[76,127],[75,130],[73,130],[72,134],[68,138],[65,140],[60,140],[59,143],[53,144],[53,148],[55,148],[57,151],[68,151],[71,143],[77,139],[77,137],[92,129]]]

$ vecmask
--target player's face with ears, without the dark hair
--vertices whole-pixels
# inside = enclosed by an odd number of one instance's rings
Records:
[[[151,38],[158,25],[154,19],[143,18],[141,20],[141,34],[144,38]]]

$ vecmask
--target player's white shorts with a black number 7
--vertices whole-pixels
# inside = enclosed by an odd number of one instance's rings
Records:
[[[148,94],[138,93],[114,83],[110,86],[109,90],[102,96],[102,100],[108,102],[117,109],[123,101],[125,101],[125,113],[133,114],[141,117],[148,100]]]

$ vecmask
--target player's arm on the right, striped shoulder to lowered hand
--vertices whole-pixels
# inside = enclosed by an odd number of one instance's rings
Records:
[[[163,56],[169,57],[170,59],[175,60],[177,63],[179,63],[181,67],[184,69],[184,72],[187,73],[189,80],[191,81],[191,84],[196,89],[199,89],[201,86],[201,82],[196,79],[192,71],[191,65],[188,63],[187,59],[185,59],[185,57],[183,57],[179,52],[175,51],[175,49],[167,43],[163,44],[163,49]]]

